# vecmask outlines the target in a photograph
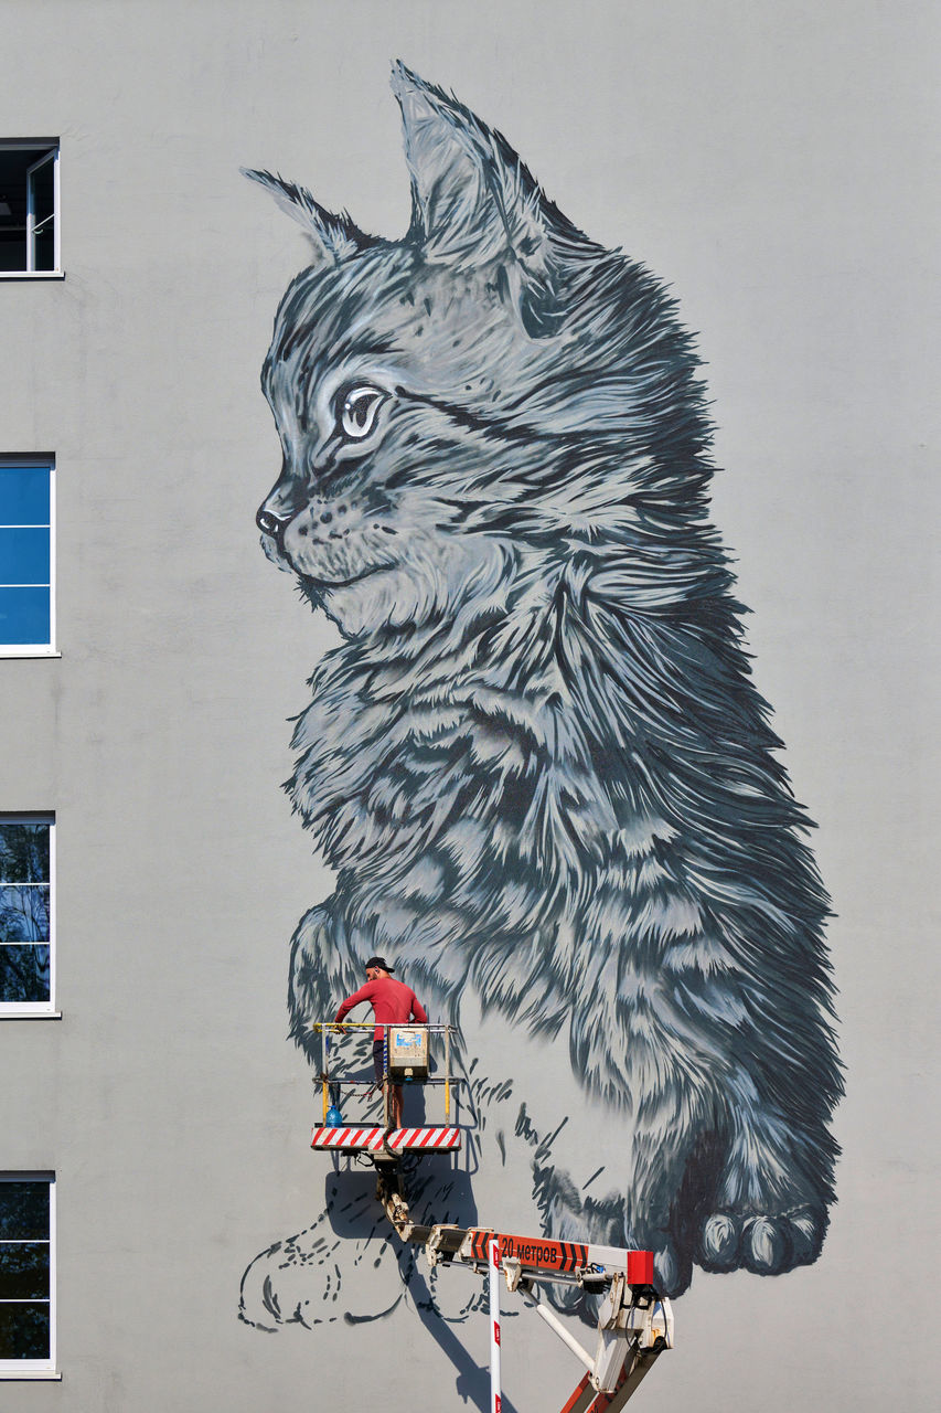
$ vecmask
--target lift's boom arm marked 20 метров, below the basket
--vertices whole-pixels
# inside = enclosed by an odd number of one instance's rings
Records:
[[[490,1275],[490,1382],[500,1413],[497,1270],[506,1287],[550,1325],[585,1365],[585,1375],[561,1413],[619,1413],[658,1355],[673,1347],[670,1301],[654,1289],[653,1252],[617,1246],[513,1236],[483,1226],[422,1226],[411,1219],[396,1163],[376,1161],[376,1195],[401,1241],[422,1246],[428,1265],[458,1262]],[[540,1300],[538,1283],[564,1283],[600,1296],[595,1354],[582,1348],[555,1311]]]

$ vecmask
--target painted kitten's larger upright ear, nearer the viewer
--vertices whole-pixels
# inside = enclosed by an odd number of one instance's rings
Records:
[[[533,338],[554,333],[558,300],[545,198],[500,133],[425,83],[401,61],[393,65],[411,175],[411,229],[430,260],[500,270]]]

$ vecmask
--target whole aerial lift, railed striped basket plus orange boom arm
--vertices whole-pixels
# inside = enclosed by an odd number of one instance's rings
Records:
[[[386,1026],[383,1119],[380,1125],[353,1125],[339,1119],[329,1105],[331,1087],[374,1089],[365,1081],[338,1080],[329,1074],[328,1027],[324,1036],[322,1104],[324,1123],[312,1130],[311,1147],[349,1157],[365,1157],[379,1173],[376,1197],[403,1242],[421,1246],[430,1269],[462,1265],[487,1275],[490,1314],[490,1407],[500,1413],[500,1286],[506,1284],[558,1335],[585,1366],[579,1383],[561,1413],[619,1413],[627,1405],[664,1349],[673,1348],[673,1311],[654,1283],[653,1252],[599,1246],[592,1242],[550,1241],[545,1236],[517,1236],[489,1226],[421,1225],[414,1222],[401,1190],[401,1159],[407,1153],[454,1153],[461,1149],[461,1126],[451,1123],[451,1026]],[[343,1030],[374,1029],[346,1023]],[[407,1034],[397,1034],[404,1031]],[[425,1031],[424,1051],[421,1037]],[[428,1077],[428,1031],[444,1034],[444,1078]],[[400,1043],[401,1041],[401,1043]],[[422,1058],[424,1056],[424,1058]],[[408,1064],[403,1061],[415,1060]],[[411,1071],[411,1072],[410,1072]],[[400,1080],[444,1087],[442,1126],[389,1128],[389,1088]],[[332,1121],[332,1122],[329,1122]],[[503,1282],[500,1280],[503,1277]],[[591,1354],[568,1325],[540,1299],[537,1286],[561,1283],[596,1296],[598,1335]]]

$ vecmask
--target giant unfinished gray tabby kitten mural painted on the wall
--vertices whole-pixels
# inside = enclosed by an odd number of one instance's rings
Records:
[[[247,174],[314,247],[264,365],[261,544],[342,634],[294,732],[336,890],[292,941],[292,1036],[314,1060],[384,954],[463,1030],[516,1229],[651,1248],[671,1294],[694,1263],[786,1272],[834,1201],[828,906],[706,519],[697,355],[499,133],[393,88],[404,239]],[[466,1219],[425,1169],[418,1219]],[[249,1269],[243,1317],[304,1320],[362,1249],[325,1212]]]

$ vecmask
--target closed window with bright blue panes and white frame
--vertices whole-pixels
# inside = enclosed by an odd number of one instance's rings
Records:
[[[49,656],[55,643],[54,468],[0,458],[0,654]]]

